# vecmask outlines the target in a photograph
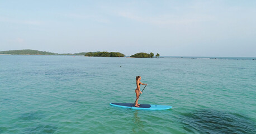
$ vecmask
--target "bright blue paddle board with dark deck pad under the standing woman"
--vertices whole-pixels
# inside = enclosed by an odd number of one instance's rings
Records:
[[[111,106],[131,108],[131,109],[143,109],[143,110],[165,110],[170,109],[172,106],[154,105],[154,104],[140,104],[140,107],[134,107],[133,103],[110,103]]]

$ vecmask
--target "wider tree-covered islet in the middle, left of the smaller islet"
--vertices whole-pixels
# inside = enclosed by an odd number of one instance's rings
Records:
[[[95,56],[95,57],[124,57],[125,55],[120,52],[87,52],[85,56]]]

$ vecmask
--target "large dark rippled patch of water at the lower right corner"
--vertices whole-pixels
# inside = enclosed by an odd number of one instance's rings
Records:
[[[212,109],[184,113],[181,117],[187,132],[200,133],[255,133],[256,126],[250,119],[229,112]]]

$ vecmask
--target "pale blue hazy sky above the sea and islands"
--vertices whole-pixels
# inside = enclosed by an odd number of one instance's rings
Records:
[[[0,1],[0,51],[256,57],[256,1]]]

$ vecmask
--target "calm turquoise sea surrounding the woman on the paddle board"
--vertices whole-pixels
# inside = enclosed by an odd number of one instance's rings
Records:
[[[137,75],[139,103],[173,108],[110,106]],[[0,55],[0,133],[256,133],[255,78],[255,60]]]

